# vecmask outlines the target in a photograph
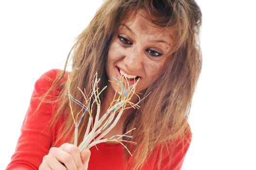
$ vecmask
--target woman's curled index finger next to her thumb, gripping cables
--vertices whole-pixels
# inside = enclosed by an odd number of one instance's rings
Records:
[[[60,148],[63,149],[63,151],[71,154],[74,158],[76,167],[78,170],[82,170],[83,169],[83,162],[81,159],[81,153],[80,150],[78,149],[78,147],[76,147],[73,144],[69,144],[69,143],[64,143]]]

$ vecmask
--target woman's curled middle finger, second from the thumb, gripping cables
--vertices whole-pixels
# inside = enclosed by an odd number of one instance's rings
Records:
[[[50,152],[50,155],[56,157],[57,160],[60,161],[61,163],[64,163],[68,170],[77,170],[74,158],[71,154],[63,151],[60,148],[51,148],[51,150],[53,151]]]

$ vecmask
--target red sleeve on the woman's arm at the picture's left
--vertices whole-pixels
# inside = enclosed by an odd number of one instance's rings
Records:
[[[52,130],[48,128],[52,104],[42,103],[38,111],[34,111],[40,102],[36,98],[47,92],[58,72],[60,70],[52,69],[36,81],[15,153],[6,170],[38,170],[43,156],[48,154],[52,142]]]

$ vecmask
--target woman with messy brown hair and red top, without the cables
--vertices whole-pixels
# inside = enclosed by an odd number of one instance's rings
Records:
[[[72,48],[70,92],[89,93],[94,74],[101,78],[101,115],[113,99],[113,77],[139,82],[139,110],[127,109],[105,138],[132,132],[129,156],[117,143],[80,153],[66,95],[67,73],[50,70],[35,83],[11,170],[180,170],[191,132],[187,118],[201,70],[198,34],[201,11],[194,0],[106,0]],[[70,52],[70,53],[71,53]],[[69,55],[68,55],[69,56]],[[68,60],[67,60],[68,61]],[[137,98],[132,98],[137,102]],[[73,105],[74,113],[80,106]],[[95,115],[95,111],[93,112]],[[85,115],[79,126],[83,140]],[[50,149],[51,148],[51,149]]]

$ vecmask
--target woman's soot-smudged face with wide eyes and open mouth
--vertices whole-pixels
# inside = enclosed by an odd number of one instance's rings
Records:
[[[165,68],[171,54],[172,36],[170,31],[151,23],[140,10],[137,16],[128,17],[118,28],[118,34],[110,44],[106,72],[110,81],[123,75],[133,85],[140,79],[136,91],[151,85]],[[116,90],[114,83],[108,87]]]

